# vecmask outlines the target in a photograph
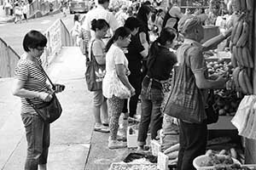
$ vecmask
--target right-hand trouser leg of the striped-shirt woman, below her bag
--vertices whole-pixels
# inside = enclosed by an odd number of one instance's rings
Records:
[[[44,132],[43,132],[43,152],[42,155],[38,159],[38,166],[39,170],[47,170],[47,157],[48,157],[48,151],[49,151],[49,139],[50,139],[50,133],[49,133],[49,123],[44,123]]]

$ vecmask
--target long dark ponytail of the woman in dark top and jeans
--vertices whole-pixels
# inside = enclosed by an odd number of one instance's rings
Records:
[[[161,46],[165,46],[167,41],[172,42],[173,39],[176,37],[177,33],[171,27],[165,27],[160,32],[160,36],[152,43],[151,47],[149,48],[149,58],[148,58],[148,70],[152,68],[154,62],[160,53]]]

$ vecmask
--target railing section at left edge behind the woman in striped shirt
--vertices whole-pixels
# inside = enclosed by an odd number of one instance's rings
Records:
[[[0,78],[13,77],[20,55],[0,38]]]

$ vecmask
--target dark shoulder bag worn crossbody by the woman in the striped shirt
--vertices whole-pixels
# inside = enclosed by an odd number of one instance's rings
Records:
[[[50,81],[48,75],[44,71],[43,67],[40,65],[42,71],[45,76],[48,78],[52,88],[55,89],[55,85]],[[62,112],[61,103],[57,99],[56,94],[52,94],[52,99],[49,102],[44,102],[42,104],[34,105],[30,99],[26,99],[27,103],[32,105],[32,108],[38,113],[38,115],[44,120],[46,123],[55,122],[60,116]]]

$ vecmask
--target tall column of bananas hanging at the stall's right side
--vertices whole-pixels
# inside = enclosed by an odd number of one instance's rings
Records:
[[[231,33],[231,64],[235,68],[232,74],[236,90],[242,94],[253,94],[252,69],[253,56],[249,48],[251,23],[248,13],[253,9],[253,0],[236,0],[241,14]]]

